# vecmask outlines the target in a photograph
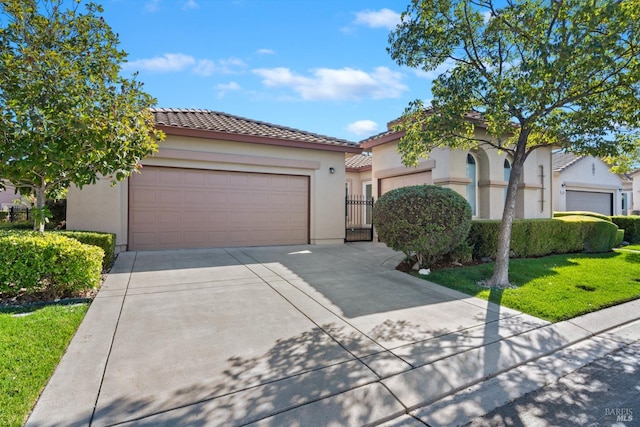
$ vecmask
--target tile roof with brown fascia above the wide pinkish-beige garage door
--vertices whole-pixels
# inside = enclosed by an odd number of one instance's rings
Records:
[[[172,135],[359,153],[355,142],[211,110],[152,108],[156,126]],[[224,136],[223,136],[224,134]],[[323,146],[323,148],[318,147]],[[329,148],[333,147],[333,148]]]

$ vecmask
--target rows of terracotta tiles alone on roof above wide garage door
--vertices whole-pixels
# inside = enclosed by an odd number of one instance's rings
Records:
[[[357,147],[357,143],[345,139],[305,132],[217,111],[191,108],[152,108],[151,111],[156,125],[314,144]]]

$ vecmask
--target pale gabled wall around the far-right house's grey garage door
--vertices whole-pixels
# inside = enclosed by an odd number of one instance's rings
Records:
[[[609,169],[602,160],[587,156],[564,171],[553,174],[554,210],[567,210],[567,190],[591,191],[613,194],[614,215],[624,215],[622,211],[622,179]],[[627,196],[631,197],[631,196]]]

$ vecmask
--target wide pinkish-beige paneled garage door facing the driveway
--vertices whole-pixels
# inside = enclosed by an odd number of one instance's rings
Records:
[[[131,176],[129,250],[308,242],[308,177],[152,166]]]

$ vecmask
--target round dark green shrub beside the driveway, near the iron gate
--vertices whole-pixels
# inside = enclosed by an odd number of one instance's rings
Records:
[[[458,248],[471,227],[471,206],[460,194],[435,185],[402,187],[373,206],[380,241],[421,266]]]

